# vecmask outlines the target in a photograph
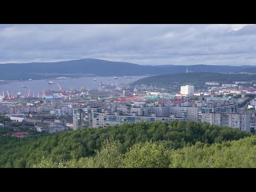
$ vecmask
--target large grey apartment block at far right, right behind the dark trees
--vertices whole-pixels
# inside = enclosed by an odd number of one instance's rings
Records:
[[[202,122],[208,122],[211,125],[228,126],[234,129],[250,132],[250,114],[232,114],[232,113],[204,113]]]

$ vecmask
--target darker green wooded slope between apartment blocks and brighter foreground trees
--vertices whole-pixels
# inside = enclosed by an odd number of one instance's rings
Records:
[[[193,146],[196,142],[210,146],[212,143],[239,140],[250,135],[252,133],[209,123],[173,121],[170,124],[123,124],[107,128],[35,134],[26,138],[1,136],[0,166],[33,167],[43,157],[45,161],[51,159],[52,163],[96,157],[106,139],[119,142],[118,150],[124,155],[135,143],[147,141],[161,143],[165,150],[177,150]]]

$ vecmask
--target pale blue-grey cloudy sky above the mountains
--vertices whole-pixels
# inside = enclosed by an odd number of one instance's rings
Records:
[[[103,59],[139,65],[256,65],[256,25],[0,25],[0,63]]]

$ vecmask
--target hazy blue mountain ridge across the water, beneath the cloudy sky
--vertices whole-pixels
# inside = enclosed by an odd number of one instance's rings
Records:
[[[129,62],[114,62],[100,59],[79,59],[59,62],[6,63],[0,65],[2,79],[20,79],[33,75],[43,78],[44,73],[92,74],[95,76],[138,76],[185,73],[185,71],[211,73],[238,73],[255,71],[253,66],[213,66],[213,65],[162,65],[143,66]],[[15,75],[12,75],[15,74]],[[39,74],[39,75],[38,75]],[[41,74],[41,75],[40,75]]]

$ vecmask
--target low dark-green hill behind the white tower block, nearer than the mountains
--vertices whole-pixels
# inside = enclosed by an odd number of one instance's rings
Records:
[[[167,86],[170,84],[177,85],[205,85],[205,82],[214,81],[220,84],[232,83],[234,81],[255,81],[255,75],[249,74],[222,74],[222,73],[179,73],[179,74],[167,74],[167,75],[156,75],[146,77],[133,82],[133,85],[158,85]]]

